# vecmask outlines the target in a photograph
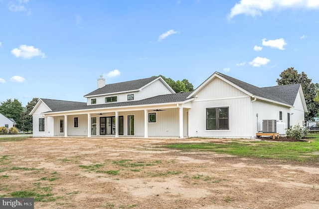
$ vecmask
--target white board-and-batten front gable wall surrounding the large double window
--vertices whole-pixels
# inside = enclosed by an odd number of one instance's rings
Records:
[[[219,78],[203,87],[189,110],[189,137],[251,138],[251,97]],[[229,130],[206,130],[206,108],[228,107]]]

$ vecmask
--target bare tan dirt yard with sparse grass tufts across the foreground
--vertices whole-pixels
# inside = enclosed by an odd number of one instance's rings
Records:
[[[47,196],[35,209],[319,208],[318,164],[160,147],[209,141],[216,139],[1,142],[0,197],[16,191]]]

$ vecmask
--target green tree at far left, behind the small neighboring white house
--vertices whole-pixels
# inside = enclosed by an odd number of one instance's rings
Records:
[[[7,99],[5,102],[0,103],[0,113],[7,118],[13,118],[17,128],[20,127],[20,115],[22,112],[22,104],[17,99],[14,99],[13,101]]]

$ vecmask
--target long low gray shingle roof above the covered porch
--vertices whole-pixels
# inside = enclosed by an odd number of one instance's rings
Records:
[[[159,95],[139,101],[129,102],[114,102],[98,105],[87,105],[86,102],[72,102],[54,99],[41,99],[52,111],[49,112],[61,112],[61,111],[72,111],[72,110],[90,110],[95,108],[111,108],[111,107],[124,107],[124,106],[136,106],[136,105],[147,105],[147,104],[161,104],[161,103],[174,103],[182,102],[186,100],[186,97],[191,92],[175,93]]]

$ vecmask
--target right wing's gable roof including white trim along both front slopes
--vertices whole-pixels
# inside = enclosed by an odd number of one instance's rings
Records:
[[[202,89],[208,82],[210,82],[213,78],[218,77],[230,85],[240,89],[251,97],[258,97],[261,100],[273,101],[276,103],[280,103],[283,105],[293,106],[297,97],[297,93],[301,84],[291,84],[291,85],[283,85],[283,86],[273,86],[273,87],[257,87],[246,83],[244,81],[232,78],[230,76],[224,75],[219,72],[214,72],[208,79],[206,79],[202,84],[200,84],[192,94],[193,96],[200,89]]]

